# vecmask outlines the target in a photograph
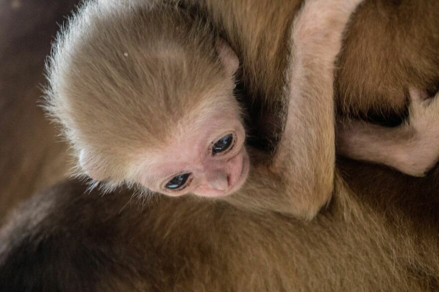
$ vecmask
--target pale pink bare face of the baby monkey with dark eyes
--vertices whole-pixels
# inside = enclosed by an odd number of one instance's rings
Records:
[[[249,159],[244,127],[233,115],[211,115],[197,127],[187,127],[170,147],[150,156],[140,183],[172,196],[215,197],[237,191],[247,178]]]

